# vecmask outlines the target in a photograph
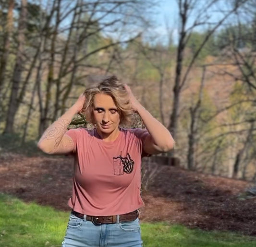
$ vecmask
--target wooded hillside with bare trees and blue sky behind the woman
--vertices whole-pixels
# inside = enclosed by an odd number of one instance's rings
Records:
[[[171,131],[182,167],[255,180],[256,2],[173,5],[177,26],[161,40],[155,0],[1,1],[0,152],[35,145],[116,74]]]

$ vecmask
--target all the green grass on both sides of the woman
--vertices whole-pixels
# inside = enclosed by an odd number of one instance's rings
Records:
[[[69,212],[0,194],[0,247],[60,247]],[[256,238],[167,223],[141,223],[144,247],[255,247]]]

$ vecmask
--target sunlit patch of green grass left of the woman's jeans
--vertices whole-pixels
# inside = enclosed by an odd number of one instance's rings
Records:
[[[1,247],[58,247],[65,235],[68,212],[0,194]]]

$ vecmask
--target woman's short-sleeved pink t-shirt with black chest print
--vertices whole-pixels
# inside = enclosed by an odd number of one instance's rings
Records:
[[[96,129],[66,132],[76,146],[72,198],[68,205],[87,215],[132,212],[144,203],[140,196],[141,157],[145,129],[120,129],[115,141],[100,139]]]

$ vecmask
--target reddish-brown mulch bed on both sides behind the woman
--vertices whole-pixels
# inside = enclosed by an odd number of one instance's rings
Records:
[[[249,182],[162,166],[142,197],[142,222],[182,223],[206,230],[256,235],[256,200],[238,200]],[[0,155],[0,192],[70,211],[71,156]]]

